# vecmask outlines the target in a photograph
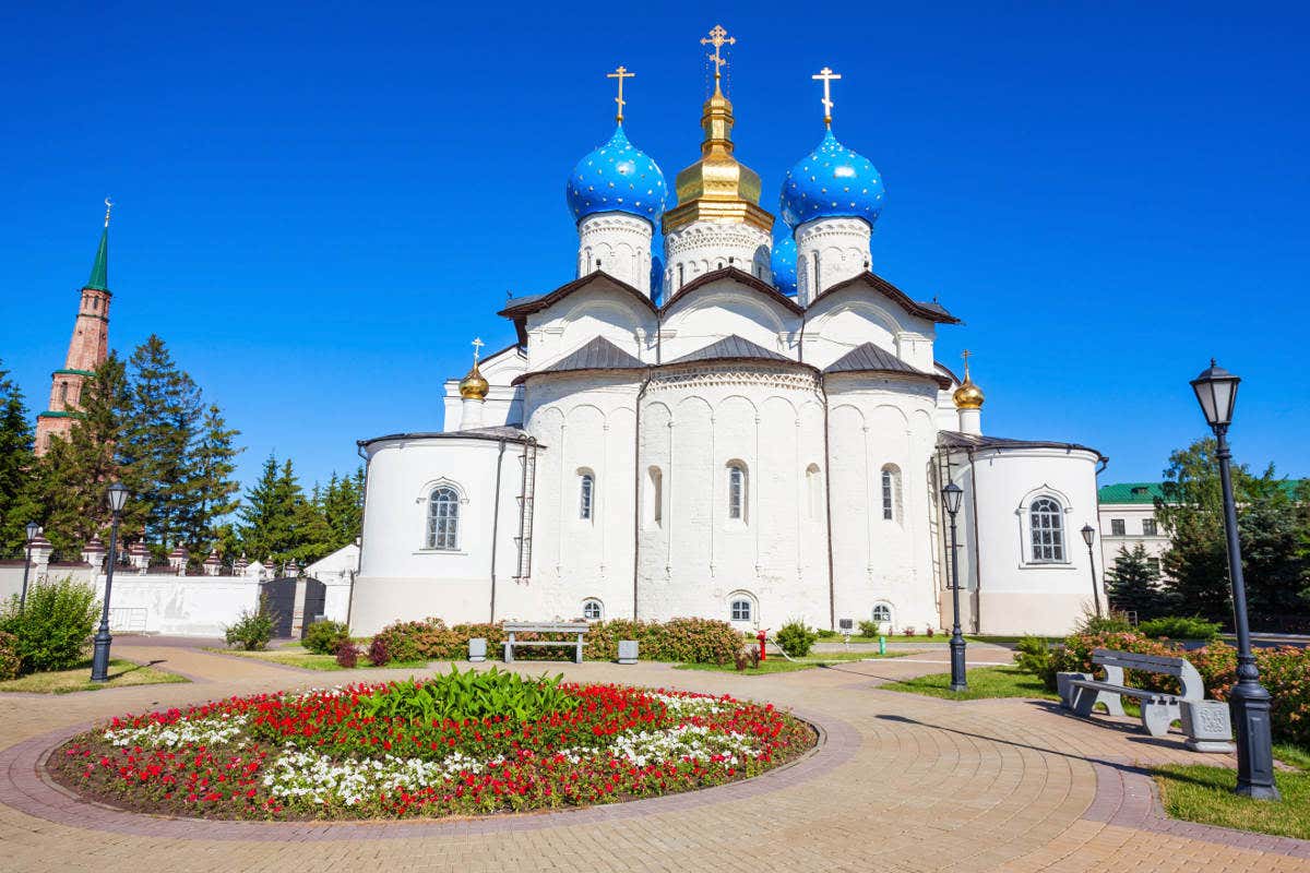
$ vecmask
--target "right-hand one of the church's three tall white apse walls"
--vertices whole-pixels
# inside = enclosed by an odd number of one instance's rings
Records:
[[[828,381],[837,619],[858,626],[882,603],[896,628],[938,624],[930,487],[935,393],[930,383],[861,374]],[[884,517],[884,470],[891,518]]]

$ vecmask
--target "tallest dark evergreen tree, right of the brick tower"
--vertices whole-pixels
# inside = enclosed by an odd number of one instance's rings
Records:
[[[183,541],[199,503],[190,448],[200,424],[200,390],[156,335],[131,357],[131,414],[124,461],[135,469],[145,504],[144,538],[157,556]]]

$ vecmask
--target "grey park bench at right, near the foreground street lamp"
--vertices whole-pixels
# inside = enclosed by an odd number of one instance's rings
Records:
[[[1060,674],[1060,703],[1074,715],[1087,717],[1098,703],[1106,704],[1106,712],[1112,716],[1124,715],[1123,696],[1137,698],[1141,705],[1142,726],[1153,737],[1169,733],[1170,722],[1182,717],[1179,704],[1199,703],[1205,699],[1205,685],[1201,674],[1187,658],[1174,658],[1158,654],[1136,654],[1095,649],[1091,662],[1104,668],[1104,681],[1094,679],[1087,673]],[[1140,673],[1159,673],[1178,677],[1183,686],[1182,694],[1165,694],[1148,688],[1131,688],[1124,683],[1124,670]]]

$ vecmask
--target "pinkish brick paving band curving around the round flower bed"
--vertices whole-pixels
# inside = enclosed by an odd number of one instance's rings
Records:
[[[772,793],[808,781],[842,766],[859,749],[859,732],[852,724],[811,711],[793,709],[790,712],[815,730],[817,741],[814,747],[796,760],[749,779],[663,797],[597,804],[578,809],[394,822],[379,819],[259,822],[179,818],[135,813],[86,800],[55,783],[46,772],[46,762],[64,742],[102,724],[102,720],[97,720],[51,730],[0,750],[0,804],[28,815],[71,827],[164,839],[248,842],[405,839],[592,825],[681,811]]]

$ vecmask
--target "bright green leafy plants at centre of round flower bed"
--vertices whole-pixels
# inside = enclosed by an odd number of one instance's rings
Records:
[[[487,716],[512,716],[519,721],[549,712],[571,712],[579,700],[559,687],[563,675],[531,679],[507,670],[460,673],[452,666],[426,681],[393,682],[385,691],[360,698],[359,715],[373,719],[464,721]]]

